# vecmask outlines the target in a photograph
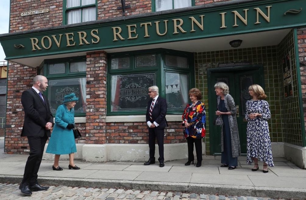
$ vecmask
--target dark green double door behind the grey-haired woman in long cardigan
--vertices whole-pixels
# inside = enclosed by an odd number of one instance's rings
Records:
[[[245,68],[244,68],[245,69]],[[216,82],[225,82],[230,88],[230,95],[233,96],[237,108],[237,123],[240,137],[241,153],[246,153],[246,126],[244,119],[245,103],[251,99],[248,94],[248,87],[252,84],[263,86],[263,68],[250,66],[247,70],[241,67],[229,69],[208,70],[209,77],[209,135],[211,155],[221,153],[221,127],[213,125],[215,111],[217,110],[217,96],[214,85]]]

